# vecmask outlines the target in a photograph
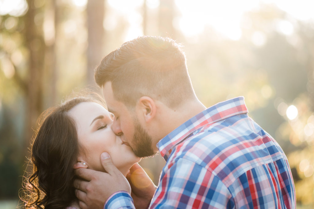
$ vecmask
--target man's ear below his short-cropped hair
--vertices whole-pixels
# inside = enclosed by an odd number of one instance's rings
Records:
[[[156,114],[156,104],[150,97],[143,96],[139,99],[138,111],[144,117],[146,123],[150,122]]]

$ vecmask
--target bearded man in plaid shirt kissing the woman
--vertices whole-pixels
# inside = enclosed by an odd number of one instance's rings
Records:
[[[74,182],[82,208],[134,208],[133,200],[137,208],[295,208],[279,144],[248,117],[243,97],[206,109],[174,40],[126,42],[101,61],[95,81],[114,114],[112,130],[139,157],[160,151],[166,165],[156,190],[134,165],[127,176],[132,199],[127,180],[103,153],[107,173],[76,170],[84,179]],[[146,186],[137,186],[141,180]]]

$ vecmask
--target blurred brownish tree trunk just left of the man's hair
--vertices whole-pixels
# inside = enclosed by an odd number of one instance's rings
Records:
[[[87,83],[95,84],[94,68],[100,63],[103,55],[105,1],[89,0],[87,3]]]

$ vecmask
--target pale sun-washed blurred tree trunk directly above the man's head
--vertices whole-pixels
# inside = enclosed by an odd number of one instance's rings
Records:
[[[176,31],[172,20],[175,17],[174,0],[160,0],[159,6],[159,31],[160,36],[176,39]]]

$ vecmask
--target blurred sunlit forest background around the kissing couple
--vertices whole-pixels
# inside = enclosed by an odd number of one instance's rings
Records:
[[[313,9],[307,0],[0,0],[0,208],[21,205],[39,114],[95,85],[101,58],[140,35],[183,44],[207,107],[244,96],[289,159],[298,208],[313,208]],[[157,184],[163,159],[141,165]]]

